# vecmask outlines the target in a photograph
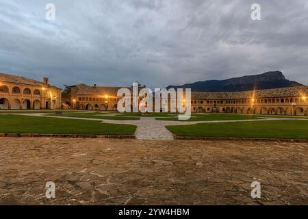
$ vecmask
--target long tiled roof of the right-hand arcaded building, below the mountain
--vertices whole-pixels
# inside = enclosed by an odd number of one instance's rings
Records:
[[[308,86],[296,86],[290,88],[276,88],[268,90],[255,90],[244,92],[192,92],[192,99],[258,99],[258,98],[276,98],[282,96],[307,96]]]

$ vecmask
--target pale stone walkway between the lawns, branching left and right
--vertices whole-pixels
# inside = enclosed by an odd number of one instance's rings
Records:
[[[211,121],[168,121],[168,120],[156,120],[154,117],[145,117],[140,116],[140,120],[108,120],[102,118],[77,118],[69,116],[46,116],[46,114],[18,114],[23,116],[43,116],[50,118],[67,118],[67,119],[78,119],[78,120],[96,120],[101,121],[102,123],[110,124],[125,124],[125,125],[136,125],[135,136],[139,140],[174,140],[172,133],[166,129],[168,125],[194,125],[198,123],[236,123],[236,122],[256,122],[262,120],[306,120],[300,118],[266,118],[261,117],[262,119],[247,119],[247,120],[211,120]],[[114,114],[116,115],[116,114]],[[129,116],[131,117],[131,116]]]

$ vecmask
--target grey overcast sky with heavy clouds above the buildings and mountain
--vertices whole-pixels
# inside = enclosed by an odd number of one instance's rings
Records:
[[[261,21],[251,20],[253,3]],[[308,84],[307,69],[307,0],[0,0],[0,72],[61,88],[162,88],[269,70]]]

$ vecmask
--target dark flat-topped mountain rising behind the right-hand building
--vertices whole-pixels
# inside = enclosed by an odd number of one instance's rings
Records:
[[[285,79],[285,76],[280,71],[270,71],[261,75],[248,75],[220,81],[198,81],[196,83],[187,83],[182,86],[168,86],[167,88],[192,88],[192,91],[235,92],[294,86],[303,86],[303,84]]]

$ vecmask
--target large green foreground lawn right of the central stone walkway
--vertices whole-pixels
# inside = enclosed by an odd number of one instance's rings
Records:
[[[199,123],[166,127],[177,136],[308,139],[308,120]]]

